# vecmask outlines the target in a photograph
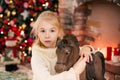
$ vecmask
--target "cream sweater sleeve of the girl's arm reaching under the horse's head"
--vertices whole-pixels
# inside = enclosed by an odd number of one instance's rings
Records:
[[[48,66],[44,63],[44,59],[40,56],[38,57],[35,52],[33,51],[31,58],[33,80],[79,80],[79,76],[76,77],[73,68],[59,74],[50,74]]]

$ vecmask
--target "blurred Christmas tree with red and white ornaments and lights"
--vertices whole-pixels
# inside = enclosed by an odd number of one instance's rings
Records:
[[[12,30],[17,39],[16,48],[31,56],[33,38],[30,32],[37,16],[45,10],[58,13],[58,0],[0,0],[0,54],[6,48],[8,31]]]

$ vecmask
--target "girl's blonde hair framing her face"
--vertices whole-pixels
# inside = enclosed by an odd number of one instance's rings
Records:
[[[64,32],[63,32],[63,28],[62,28],[61,23],[60,23],[59,16],[55,12],[44,11],[38,16],[38,18],[37,18],[37,20],[36,20],[36,22],[34,23],[34,26],[33,26],[35,43],[37,43],[40,46],[44,46],[37,36],[38,35],[38,28],[41,26],[41,22],[43,22],[43,21],[48,22],[49,24],[51,24],[55,27],[58,27],[58,29],[59,29],[58,38],[63,37]]]

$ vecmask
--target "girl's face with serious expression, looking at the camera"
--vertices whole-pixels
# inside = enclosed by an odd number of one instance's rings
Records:
[[[58,27],[47,22],[42,22],[42,25],[38,28],[38,37],[41,43],[47,48],[53,48],[56,46],[58,33]]]

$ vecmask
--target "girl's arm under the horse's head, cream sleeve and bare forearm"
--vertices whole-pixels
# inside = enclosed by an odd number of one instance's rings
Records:
[[[55,74],[55,70],[53,73],[49,70],[53,68],[49,63],[49,60],[47,60],[46,57],[43,57],[43,55],[40,55],[40,51],[33,49],[31,58],[33,80],[79,80],[79,75],[85,69],[86,60],[86,57],[81,57],[68,71]]]

